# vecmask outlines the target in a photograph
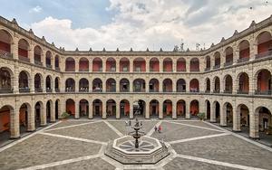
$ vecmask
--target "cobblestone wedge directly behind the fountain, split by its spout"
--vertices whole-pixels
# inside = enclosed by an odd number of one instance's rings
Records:
[[[131,121],[133,123],[134,121]],[[131,127],[125,127],[124,121],[109,121],[109,123],[112,124],[112,126],[116,127],[123,135],[127,134],[132,130]],[[148,133],[155,125],[158,123],[158,121],[142,121],[143,128],[141,131]]]

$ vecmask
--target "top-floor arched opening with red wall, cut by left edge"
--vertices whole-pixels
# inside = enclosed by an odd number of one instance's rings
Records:
[[[12,57],[13,38],[10,33],[0,30],[0,54],[5,57]]]

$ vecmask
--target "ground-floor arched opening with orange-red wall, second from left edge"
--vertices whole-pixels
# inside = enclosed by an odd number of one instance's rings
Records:
[[[19,127],[20,127],[20,135],[22,136],[27,132],[28,127],[28,117],[31,112],[30,105],[24,103],[21,105],[19,109]]]

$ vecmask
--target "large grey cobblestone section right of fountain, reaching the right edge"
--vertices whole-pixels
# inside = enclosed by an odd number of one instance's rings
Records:
[[[214,137],[174,144],[172,147],[182,155],[272,169],[271,152],[238,137]]]

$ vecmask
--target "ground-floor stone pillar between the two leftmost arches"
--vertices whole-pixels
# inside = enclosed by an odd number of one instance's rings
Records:
[[[10,110],[10,137],[20,137],[19,109],[17,107]]]

